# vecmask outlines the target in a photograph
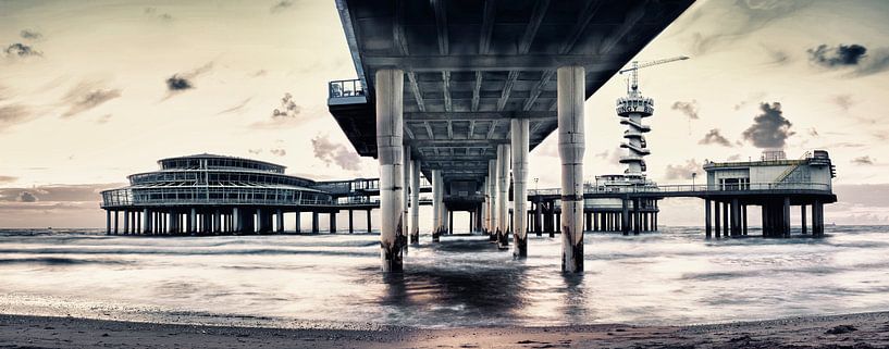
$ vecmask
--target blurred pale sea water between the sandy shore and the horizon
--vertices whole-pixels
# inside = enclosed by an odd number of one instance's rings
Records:
[[[585,270],[530,236],[411,247],[380,273],[374,235],[120,237],[0,230],[0,312],[183,323],[424,327],[687,324],[889,310],[889,228],[705,240],[699,228],[587,234]],[[428,237],[423,237],[428,241]]]

